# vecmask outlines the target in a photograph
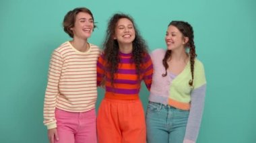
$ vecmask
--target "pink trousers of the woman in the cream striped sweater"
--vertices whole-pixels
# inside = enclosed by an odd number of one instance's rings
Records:
[[[55,109],[59,141],[55,143],[96,143],[95,109],[75,113]]]

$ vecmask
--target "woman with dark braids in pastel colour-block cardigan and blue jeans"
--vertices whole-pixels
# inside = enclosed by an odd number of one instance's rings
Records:
[[[165,37],[167,50],[152,52],[154,74],[146,114],[149,143],[197,140],[206,81],[193,38],[189,23],[171,21]]]

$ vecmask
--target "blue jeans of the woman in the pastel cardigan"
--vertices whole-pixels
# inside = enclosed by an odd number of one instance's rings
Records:
[[[189,111],[150,102],[146,113],[148,143],[182,143]]]

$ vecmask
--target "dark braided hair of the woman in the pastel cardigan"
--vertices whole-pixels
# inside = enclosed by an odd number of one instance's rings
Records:
[[[194,43],[194,34],[193,34],[193,28],[192,26],[185,22],[185,21],[171,21],[168,25],[169,26],[175,26],[178,28],[178,30],[183,34],[184,37],[189,38],[189,42],[185,44],[186,48],[189,48],[189,57],[190,57],[190,69],[191,69],[191,75],[192,79],[189,81],[189,85],[193,86],[193,80],[194,80],[194,64],[195,64],[195,57],[197,54],[195,53],[195,43]],[[166,53],[164,55],[164,59],[162,60],[162,64],[164,65],[166,73],[162,74],[162,77],[165,77],[167,75],[167,69],[168,69],[168,63],[167,60],[170,59],[172,50],[166,50]]]

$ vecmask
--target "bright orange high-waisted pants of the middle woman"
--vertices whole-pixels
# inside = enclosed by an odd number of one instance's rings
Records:
[[[104,98],[98,109],[97,135],[99,143],[145,143],[141,101]]]

